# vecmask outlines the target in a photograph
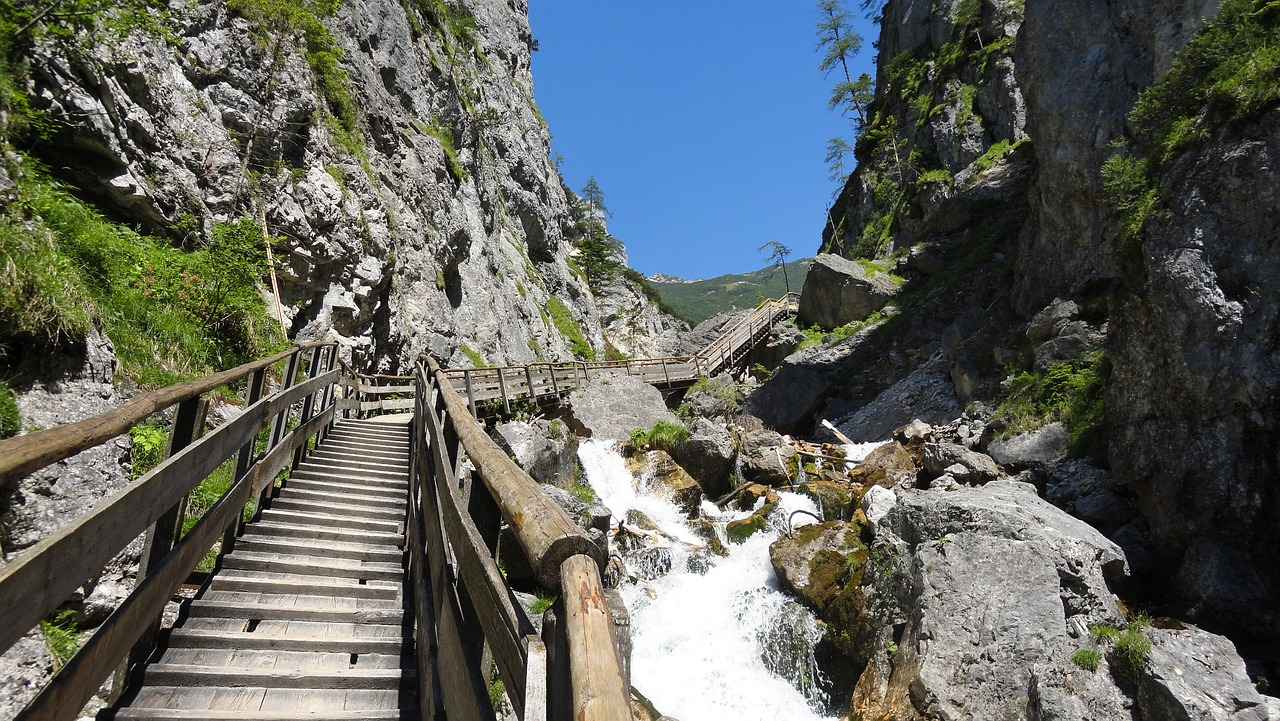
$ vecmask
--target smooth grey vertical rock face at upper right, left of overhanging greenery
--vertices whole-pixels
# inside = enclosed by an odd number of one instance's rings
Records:
[[[1219,0],[1124,0],[1080,5],[1028,0],[1015,78],[1038,170],[1023,236],[1015,302],[1024,314],[1117,274],[1114,219],[1098,172],[1123,137],[1138,93],[1212,15]],[[1071,18],[1064,22],[1064,18]]]

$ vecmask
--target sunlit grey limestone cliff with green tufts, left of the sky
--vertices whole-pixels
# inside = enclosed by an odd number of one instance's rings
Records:
[[[284,5],[172,3],[151,31],[37,47],[31,95],[60,128],[37,152],[161,236],[264,214],[289,336],[370,370],[568,359],[575,329],[603,352],[526,3]]]

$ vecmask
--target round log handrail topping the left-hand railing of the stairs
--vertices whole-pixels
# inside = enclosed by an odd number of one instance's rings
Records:
[[[244,365],[161,388],[140,393],[123,405],[104,414],[87,417],[78,423],[59,425],[49,430],[37,430],[26,435],[18,435],[6,441],[0,441],[0,488],[27,476],[50,464],[68,458],[86,448],[92,448],[127,433],[138,423],[152,415],[173,407],[183,401],[202,396],[241,378],[279,362],[306,348],[326,346],[332,343],[300,343],[288,351],[282,351],[274,356],[247,362]]]

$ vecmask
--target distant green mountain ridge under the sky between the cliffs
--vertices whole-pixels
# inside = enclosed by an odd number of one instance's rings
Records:
[[[686,280],[666,273],[649,277],[649,283],[658,291],[666,305],[671,306],[692,323],[701,323],[717,312],[755,307],[760,298],[776,298],[791,291],[800,292],[804,286],[812,257],[792,260],[786,264],[786,277],[777,265],[768,265],[750,273],[730,273],[717,278]]]

